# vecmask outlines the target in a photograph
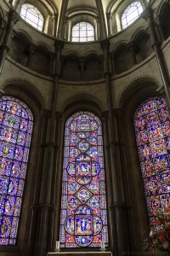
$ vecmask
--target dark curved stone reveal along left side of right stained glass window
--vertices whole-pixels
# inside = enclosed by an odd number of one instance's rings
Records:
[[[136,237],[136,246],[143,247],[142,241],[148,236],[149,218],[144,197],[144,185],[134,129],[134,113],[139,105],[150,97],[161,97],[157,92],[158,84],[152,79],[141,79],[132,84],[121,97],[123,137],[125,139],[127,160],[126,186],[130,192],[130,201],[133,205],[133,229]]]

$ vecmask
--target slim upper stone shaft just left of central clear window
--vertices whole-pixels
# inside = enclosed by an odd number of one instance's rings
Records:
[[[59,15],[58,38],[63,39],[65,35],[65,18],[69,0],[63,0]]]

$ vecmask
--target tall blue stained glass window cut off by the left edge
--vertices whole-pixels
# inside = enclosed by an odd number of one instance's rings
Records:
[[[15,245],[33,117],[19,99],[0,99],[0,245]]]

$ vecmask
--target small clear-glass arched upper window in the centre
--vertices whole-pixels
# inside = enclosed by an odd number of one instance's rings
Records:
[[[72,27],[72,42],[94,41],[94,26],[88,22],[79,22]]]

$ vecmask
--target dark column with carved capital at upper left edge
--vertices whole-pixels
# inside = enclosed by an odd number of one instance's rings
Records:
[[[3,70],[3,63],[5,61],[5,57],[7,55],[12,37],[13,37],[13,29],[14,24],[20,20],[20,15],[17,14],[13,9],[8,13],[8,26],[6,30],[6,34],[3,39],[3,44],[1,46],[1,54],[0,54],[0,76]]]

